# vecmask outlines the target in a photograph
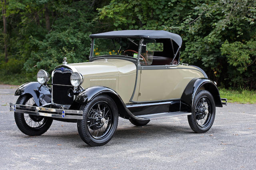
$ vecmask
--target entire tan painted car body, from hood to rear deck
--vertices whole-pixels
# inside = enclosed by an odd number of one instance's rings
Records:
[[[125,104],[180,99],[188,82],[204,77],[193,66],[165,66],[164,69],[138,70],[136,65],[124,59],[97,59],[88,63],[68,64],[74,66],[84,77],[82,87],[104,86],[116,91]],[[136,88],[134,92],[134,87]],[[134,92],[134,96],[132,94]]]

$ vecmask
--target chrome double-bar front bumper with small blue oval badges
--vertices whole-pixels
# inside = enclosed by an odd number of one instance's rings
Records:
[[[16,113],[27,113],[30,115],[54,117],[61,119],[83,119],[82,110],[53,109],[47,107],[26,106],[10,103],[10,110]]]

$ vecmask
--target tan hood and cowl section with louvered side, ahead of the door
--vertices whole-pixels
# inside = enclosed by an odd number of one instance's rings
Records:
[[[70,64],[84,76],[82,87],[104,86],[116,91],[128,103],[136,80],[134,63],[122,59],[98,59],[88,63]]]

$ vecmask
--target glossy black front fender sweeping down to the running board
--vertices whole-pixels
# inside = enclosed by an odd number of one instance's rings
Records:
[[[120,117],[123,117],[125,119],[132,118],[136,120],[147,120],[147,119],[139,118],[133,115],[130,112],[130,110],[125,106],[122,98],[111,88],[107,88],[103,86],[94,86],[94,87],[86,88],[76,96],[74,101],[79,104],[86,104],[92,101],[96,96],[100,94],[107,94],[114,100],[114,102],[116,103],[116,106],[118,107],[118,112]]]

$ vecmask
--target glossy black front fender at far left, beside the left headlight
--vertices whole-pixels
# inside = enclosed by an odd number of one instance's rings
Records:
[[[51,90],[38,82],[22,84],[15,92],[15,96],[30,94],[33,96],[36,106],[43,106],[51,103]]]

